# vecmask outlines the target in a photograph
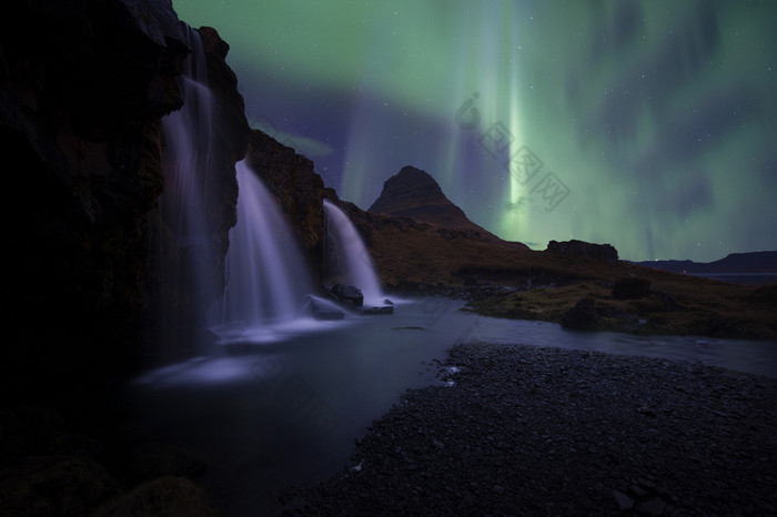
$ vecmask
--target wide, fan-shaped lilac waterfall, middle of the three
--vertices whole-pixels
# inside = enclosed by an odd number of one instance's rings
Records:
[[[294,233],[275,199],[238,162],[238,224],[230,231],[226,288],[210,316],[214,325],[279,323],[297,317],[313,283]]]

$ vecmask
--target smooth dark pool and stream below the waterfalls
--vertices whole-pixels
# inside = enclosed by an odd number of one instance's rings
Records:
[[[438,384],[433,362],[455,343],[596,349],[777,377],[774,342],[569,332],[462,305],[430,297],[397,303],[391,316],[299,320],[283,339],[150,372],[129,388],[128,430],[203,458],[201,483],[225,514],[268,515],[278,490],[347,466],[354,438],[405,389]]]

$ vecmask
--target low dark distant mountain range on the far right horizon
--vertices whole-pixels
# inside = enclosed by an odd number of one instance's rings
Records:
[[[694,261],[644,261],[634,262],[645,267],[687,274],[741,274],[741,273],[776,273],[777,251],[731,253],[715,262]]]

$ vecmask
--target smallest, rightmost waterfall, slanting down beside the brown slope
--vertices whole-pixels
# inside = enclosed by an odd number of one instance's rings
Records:
[[[330,243],[327,258],[335,263],[330,272],[334,276],[355,285],[364,294],[364,305],[383,305],[384,294],[381,282],[375,274],[375,267],[370,258],[370,253],[362,242],[356,227],[345,213],[335,204],[324,200],[326,213],[326,237]],[[336,264],[342,262],[343,267]]]

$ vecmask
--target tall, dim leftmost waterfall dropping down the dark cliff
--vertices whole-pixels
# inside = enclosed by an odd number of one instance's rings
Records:
[[[200,33],[182,27],[191,51],[178,79],[183,105],[162,119],[164,190],[160,216],[151,221],[155,236],[151,317],[158,318],[158,342],[165,344],[160,346],[181,347],[173,355],[195,352],[192,322],[201,321],[221,286],[206,199],[215,176],[211,160],[215,103]]]

